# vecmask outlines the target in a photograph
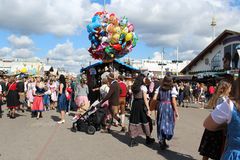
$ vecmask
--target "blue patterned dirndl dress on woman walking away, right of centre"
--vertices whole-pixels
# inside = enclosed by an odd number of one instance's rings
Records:
[[[157,114],[157,136],[161,142],[163,140],[171,140],[174,134],[175,120],[174,110],[172,107],[171,90],[163,91],[159,89],[159,106]]]

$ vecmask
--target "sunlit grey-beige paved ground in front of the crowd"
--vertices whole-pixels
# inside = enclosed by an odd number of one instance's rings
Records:
[[[129,138],[120,133],[120,128],[112,128],[112,134],[97,132],[87,135],[70,131],[71,117],[65,124],[57,124],[58,113],[43,113],[36,120],[29,112],[19,113],[16,119],[9,119],[4,109],[0,119],[0,160],[190,160],[200,159],[197,150],[203,133],[202,122],[208,110],[179,108],[175,135],[169,142],[170,148],[159,150],[155,143],[148,147],[144,137],[139,137],[140,145],[129,148]],[[156,137],[156,130],[153,131]]]

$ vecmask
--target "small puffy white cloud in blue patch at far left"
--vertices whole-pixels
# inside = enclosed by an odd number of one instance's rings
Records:
[[[32,47],[33,41],[28,36],[11,35],[8,37],[10,45],[14,48],[29,48]]]

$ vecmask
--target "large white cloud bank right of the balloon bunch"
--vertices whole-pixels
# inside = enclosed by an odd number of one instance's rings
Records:
[[[149,46],[203,49],[211,40],[212,16],[217,35],[224,29],[240,31],[240,10],[227,0],[114,0],[107,8],[127,16]]]

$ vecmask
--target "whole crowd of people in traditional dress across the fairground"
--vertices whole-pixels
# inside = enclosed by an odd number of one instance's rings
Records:
[[[145,135],[146,144],[151,145],[155,142],[151,136],[155,125],[161,150],[169,147],[166,141],[174,136],[178,106],[190,102],[207,104],[214,110],[204,122],[206,129],[199,147],[203,160],[240,158],[240,133],[234,129],[240,127],[239,99],[229,98],[231,84],[226,81],[220,81],[217,86],[176,83],[171,75],[160,80],[149,72],[140,73],[133,80],[111,72],[94,88],[89,87],[84,75],[79,79],[64,75],[58,79],[5,77],[0,84],[0,106],[6,102],[9,118],[16,118],[16,110],[28,110],[38,120],[44,111],[56,109],[60,113],[59,124],[65,123],[70,110],[76,110],[73,121],[80,119],[93,102],[90,92],[98,91],[99,105],[106,111],[102,132],[111,133],[111,126],[120,126],[121,132],[128,133],[130,147],[138,145],[136,137],[140,135]]]

